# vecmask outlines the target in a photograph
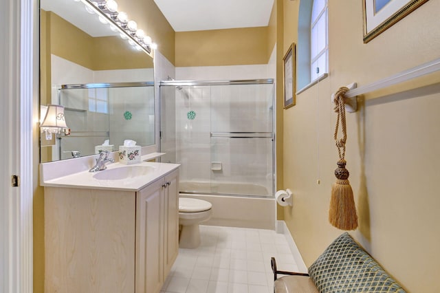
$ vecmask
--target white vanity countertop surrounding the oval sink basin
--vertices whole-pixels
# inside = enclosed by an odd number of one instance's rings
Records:
[[[159,179],[175,169],[179,168],[179,164],[157,163],[157,162],[140,162],[137,164],[120,164],[119,162],[107,164],[107,169],[96,172],[89,172],[88,169],[62,175],[60,177],[44,176],[41,174],[41,186],[51,187],[67,187],[67,188],[92,188],[92,189],[111,189],[113,191],[140,191],[148,184]],[[146,166],[150,171],[146,175],[137,175],[135,177],[127,177],[125,179],[102,180],[97,179],[104,175],[104,172],[111,169],[124,168],[131,166]],[[53,172],[53,170],[52,170]],[[113,171],[111,171],[113,172]],[[48,178],[50,177],[50,178]],[[47,179],[45,179],[47,178]]]

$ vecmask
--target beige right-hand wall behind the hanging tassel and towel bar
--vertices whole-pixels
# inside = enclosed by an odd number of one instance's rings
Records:
[[[296,41],[298,1],[285,1],[285,40]],[[294,191],[285,221],[307,266],[342,231],[328,222],[338,154],[331,93],[366,85],[439,58],[440,1],[428,1],[369,43],[362,41],[362,1],[329,1],[329,77],[284,111],[284,187]],[[419,78],[358,97],[347,115],[347,169],[360,227],[351,232],[410,292],[439,292],[440,91]],[[414,89],[426,84],[430,87]],[[319,160],[318,160],[319,158]],[[320,179],[318,185],[316,181]]]

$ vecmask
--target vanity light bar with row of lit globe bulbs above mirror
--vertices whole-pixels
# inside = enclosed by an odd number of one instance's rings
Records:
[[[143,50],[146,54],[151,56],[151,51],[157,49],[157,45],[151,42],[149,36],[145,36],[143,30],[137,30],[135,21],[128,19],[125,12],[118,12],[118,4],[114,0],[102,1],[100,3],[80,0],[87,8],[94,11],[103,19],[116,28],[122,39],[131,41],[131,45],[137,50]],[[102,22],[102,21],[101,21]]]

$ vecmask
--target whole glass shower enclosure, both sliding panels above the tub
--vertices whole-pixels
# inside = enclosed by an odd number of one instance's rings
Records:
[[[181,193],[273,197],[273,83],[160,85],[161,162]]]

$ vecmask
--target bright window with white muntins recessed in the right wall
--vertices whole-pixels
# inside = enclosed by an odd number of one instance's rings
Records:
[[[329,72],[327,0],[314,0],[310,21],[310,81]]]

